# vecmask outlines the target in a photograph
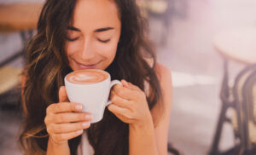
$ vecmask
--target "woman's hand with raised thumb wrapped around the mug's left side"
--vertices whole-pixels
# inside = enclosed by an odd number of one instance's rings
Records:
[[[64,86],[59,90],[59,103],[51,104],[46,109],[44,123],[49,133],[49,141],[55,144],[67,143],[90,127],[90,113],[81,112],[83,106],[71,103]]]

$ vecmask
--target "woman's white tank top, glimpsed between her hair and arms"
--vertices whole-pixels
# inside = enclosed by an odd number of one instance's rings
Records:
[[[153,66],[153,60],[152,59],[145,59],[148,62],[149,66]],[[149,83],[147,81],[144,81],[144,92],[148,96],[149,94]],[[79,145],[79,150],[78,150],[78,155],[93,155],[94,150],[93,147],[90,146],[87,132],[84,131],[82,138],[81,138],[81,143]]]

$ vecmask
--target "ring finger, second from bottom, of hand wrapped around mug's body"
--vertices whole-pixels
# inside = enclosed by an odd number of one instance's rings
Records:
[[[90,127],[90,122],[79,122],[79,123],[57,123],[52,126],[53,133],[69,133],[75,132],[81,129],[88,129]]]

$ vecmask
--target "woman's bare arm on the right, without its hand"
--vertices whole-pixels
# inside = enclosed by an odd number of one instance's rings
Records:
[[[152,118],[156,120],[157,126],[154,127],[153,121],[148,121],[148,124],[141,128],[130,125],[130,155],[167,155],[167,136],[172,106],[172,76],[166,66],[160,64],[157,64],[157,72],[163,95],[163,102],[156,104],[151,110]],[[161,105],[164,109],[160,109]],[[163,116],[161,116],[162,113],[164,113]]]

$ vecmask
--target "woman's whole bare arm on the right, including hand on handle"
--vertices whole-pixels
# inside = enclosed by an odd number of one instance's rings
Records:
[[[156,72],[160,78],[163,100],[161,100],[162,103],[157,103],[151,112],[148,108],[145,93],[136,85],[122,80],[124,86],[117,84],[113,86],[111,91],[110,99],[113,104],[108,106],[108,110],[123,122],[129,123],[130,155],[167,154],[168,123],[172,105],[172,80],[171,73],[165,66],[158,64]],[[153,120],[157,120],[155,128]]]

